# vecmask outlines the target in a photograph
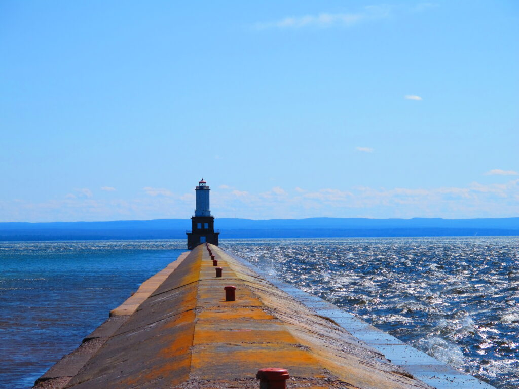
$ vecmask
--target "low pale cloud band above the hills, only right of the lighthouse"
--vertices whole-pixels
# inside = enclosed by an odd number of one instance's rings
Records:
[[[218,193],[213,210],[221,217],[507,217],[519,213],[519,179],[506,184],[467,187],[325,188]],[[238,216],[237,216],[238,215]]]

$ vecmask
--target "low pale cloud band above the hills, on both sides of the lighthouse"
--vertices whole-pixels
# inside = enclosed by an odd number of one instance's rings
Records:
[[[87,198],[30,202],[0,200],[4,221],[77,221],[188,218],[193,193],[174,195],[167,189],[147,188],[150,196],[134,199]],[[215,191],[213,214],[252,219],[304,217],[510,217],[519,214],[519,179],[500,184],[472,183],[464,187],[372,188],[350,190],[270,189],[266,192]],[[142,192],[143,193],[143,192]],[[148,193],[149,194],[149,193]],[[171,195],[170,195],[171,194]],[[74,195],[75,196],[75,195]]]

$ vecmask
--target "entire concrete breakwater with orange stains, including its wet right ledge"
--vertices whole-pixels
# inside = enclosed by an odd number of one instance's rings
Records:
[[[289,388],[491,388],[261,273],[219,247],[197,246],[144,282],[35,387],[247,389],[259,387],[258,370],[279,367]]]

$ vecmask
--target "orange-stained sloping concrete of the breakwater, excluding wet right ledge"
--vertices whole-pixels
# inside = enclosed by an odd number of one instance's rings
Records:
[[[252,388],[259,386],[259,369],[282,367],[289,370],[291,388],[427,388],[394,374],[397,367],[380,354],[219,247],[211,249],[224,269],[222,278],[214,276],[205,245],[174,271],[159,272],[118,308],[122,314],[131,312],[128,321],[68,387],[171,389],[190,387],[193,381],[193,387]],[[226,285],[237,287],[236,301],[225,301]]]

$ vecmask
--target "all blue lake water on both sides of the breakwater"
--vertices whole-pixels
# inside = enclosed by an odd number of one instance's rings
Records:
[[[519,238],[222,240],[430,355],[519,387]],[[31,387],[184,240],[0,242],[0,387]]]

